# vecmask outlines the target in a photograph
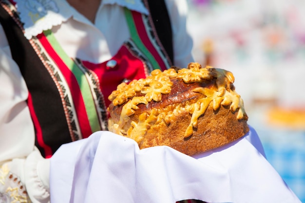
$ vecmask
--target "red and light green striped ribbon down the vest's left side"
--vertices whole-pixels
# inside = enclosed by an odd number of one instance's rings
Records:
[[[60,67],[74,98],[78,120],[82,121],[79,122],[81,133],[83,137],[88,137],[93,132],[101,130],[88,75],[64,52],[50,30],[44,31],[43,34],[39,41]]]

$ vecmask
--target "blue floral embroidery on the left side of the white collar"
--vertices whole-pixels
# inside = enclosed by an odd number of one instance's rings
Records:
[[[29,10],[28,15],[34,23],[46,16],[48,11],[59,12],[53,0],[25,0],[25,7]]]

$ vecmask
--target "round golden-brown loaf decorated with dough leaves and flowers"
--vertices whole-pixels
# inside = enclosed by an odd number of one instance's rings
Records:
[[[197,63],[178,74],[165,72],[122,84],[110,95],[109,130],[134,139],[140,148],[166,145],[187,155],[248,132],[248,116],[230,72]]]

